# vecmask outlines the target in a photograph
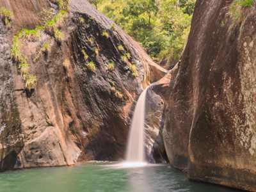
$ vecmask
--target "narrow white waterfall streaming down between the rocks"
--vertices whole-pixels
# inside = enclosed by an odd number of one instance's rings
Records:
[[[125,157],[125,164],[128,166],[129,164],[140,166],[146,163],[144,124],[147,89],[148,87],[141,93],[132,116]]]

